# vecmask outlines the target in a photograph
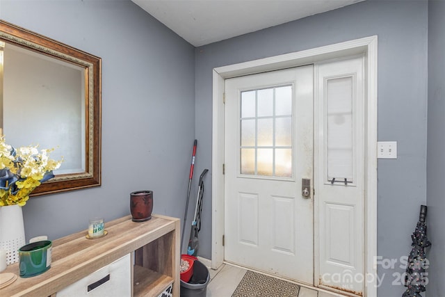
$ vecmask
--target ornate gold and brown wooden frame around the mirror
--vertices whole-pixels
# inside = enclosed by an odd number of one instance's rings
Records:
[[[101,184],[102,59],[0,19],[0,41],[81,67],[85,77],[85,160],[83,172],[60,174],[31,195],[58,193]],[[35,141],[38,141],[36,139]]]

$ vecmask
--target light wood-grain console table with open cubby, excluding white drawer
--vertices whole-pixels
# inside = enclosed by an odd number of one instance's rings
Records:
[[[57,296],[61,289],[85,278],[124,255],[134,259],[133,296],[158,296],[172,285],[179,297],[179,218],[153,215],[143,223],[131,216],[105,222],[108,234],[86,239],[86,230],[53,241],[51,268],[32,278],[17,278],[0,289],[0,296]],[[4,273],[19,275],[19,264]]]

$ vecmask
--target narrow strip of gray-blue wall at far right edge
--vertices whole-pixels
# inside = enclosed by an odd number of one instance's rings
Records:
[[[445,1],[428,3],[427,296],[444,296],[445,275]]]

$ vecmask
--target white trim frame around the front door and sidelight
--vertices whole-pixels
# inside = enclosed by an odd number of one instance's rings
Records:
[[[364,296],[377,296],[377,100],[378,100],[378,38],[373,35],[334,45],[316,47],[280,56],[272,56],[213,69],[212,118],[212,243],[211,268],[224,261],[224,92],[225,79],[260,72],[298,67],[332,58],[365,54],[366,102],[365,184],[364,184],[364,247],[366,280]],[[314,230],[314,232],[317,232]],[[316,236],[316,234],[314,234]]]

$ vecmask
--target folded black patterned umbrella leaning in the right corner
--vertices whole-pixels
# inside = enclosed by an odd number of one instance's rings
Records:
[[[421,205],[419,222],[412,233],[412,250],[408,256],[405,275],[405,287],[408,287],[402,297],[422,297],[421,292],[426,290],[426,274],[428,267],[425,248],[431,246],[426,237],[426,205]]]

